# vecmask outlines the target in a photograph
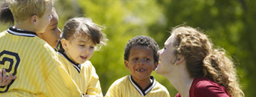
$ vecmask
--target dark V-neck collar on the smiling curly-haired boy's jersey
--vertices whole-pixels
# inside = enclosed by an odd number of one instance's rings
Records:
[[[152,88],[154,88],[154,86],[156,85],[156,80],[154,79],[153,76],[150,77],[150,79],[152,80],[152,83],[149,84],[149,86],[147,86],[145,88],[145,90],[143,90],[141,88],[141,86],[138,85],[138,83],[135,82],[135,80],[133,80],[133,78],[131,77],[131,75],[129,75],[129,80],[132,83],[132,85],[134,86],[134,88],[136,88],[136,90],[138,91],[138,93],[141,94],[142,97],[146,96],[147,93],[149,93],[149,91],[151,91]]]

